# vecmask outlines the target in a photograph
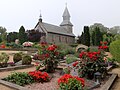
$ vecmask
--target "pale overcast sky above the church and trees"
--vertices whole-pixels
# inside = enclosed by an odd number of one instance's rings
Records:
[[[22,25],[33,29],[40,12],[43,22],[59,26],[66,3],[76,36],[94,23],[120,26],[120,0],[0,0],[0,26],[7,32],[18,32]]]

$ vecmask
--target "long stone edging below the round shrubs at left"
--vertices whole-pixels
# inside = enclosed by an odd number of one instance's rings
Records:
[[[16,70],[16,69],[25,69],[25,68],[29,68],[29,67],[32,67],[32,66],[34,66],[34,64],[5,67],[5,68],[0,68],[0,72],[11,71],[11,70]]]

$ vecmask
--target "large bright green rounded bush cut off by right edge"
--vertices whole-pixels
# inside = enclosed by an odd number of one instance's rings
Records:
[[[113,41],[110,44],[109,50],[113,58],[120,62],[120,40]]]

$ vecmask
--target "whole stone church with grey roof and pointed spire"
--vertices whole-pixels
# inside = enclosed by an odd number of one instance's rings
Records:
[[[63,21],[59,26],[43,22],[40,15],[34,30],[41,33],[40,42],[74,44],[75,35],[73,34],[72,27],[69,11],[67,7],[65,7]]]

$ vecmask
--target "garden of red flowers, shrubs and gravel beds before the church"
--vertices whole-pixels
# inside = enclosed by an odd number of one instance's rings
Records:
[[[8,90],[109,90],[118,77],[111,70],[118,64],[108,57],[107,42],[100,44],[96,51],[46,42],[1,48],[0,73],[7,74],[0,84]]]

